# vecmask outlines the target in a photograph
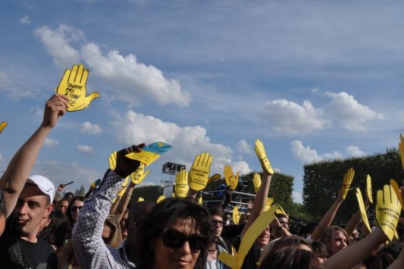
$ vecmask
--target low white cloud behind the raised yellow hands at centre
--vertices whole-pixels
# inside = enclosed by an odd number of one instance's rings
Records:
[[[112,126],[116,130],[118,142],[125,144],[166,142],[173,145],[173,149],[164,155],[170,162],[186,164],[190,167],[194,157],[202,152],[208,152],[214,157],[211,172],[223,173],[225,164],[231,165],[240,173],[250,171],[247,163],[233,162],[233,150],[223,144],[215,144],[207,137],[207,131],[201,126],[179,127],[176,123],[168,123],[153,116],[144,116],[129,110],[125,114],[114,114]]]

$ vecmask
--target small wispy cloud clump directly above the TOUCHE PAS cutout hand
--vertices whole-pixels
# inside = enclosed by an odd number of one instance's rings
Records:
[[[67,25],[59,25],[58,29],[42,26],[34,31],[45,46],[47,53],[53,58],[53,62],[59,68],[71,68],[79,62],[80,53],[69,44],[84,38],[84,34]]]

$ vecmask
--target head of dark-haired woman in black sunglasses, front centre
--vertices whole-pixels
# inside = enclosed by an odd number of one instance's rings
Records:
[[[137,268],[205,269],[211,226],[204,207],[166,198],[151,209],[138,229]]]

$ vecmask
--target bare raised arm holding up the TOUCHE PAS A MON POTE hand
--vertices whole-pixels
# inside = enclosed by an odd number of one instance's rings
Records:
[[[63,95],[55,94],[45,103],[45,112],[40,127],[18,149],[1,177],[0,187],[3,188],[7,204],[7,216],[10,216],[16,205],[45,138],[55,127],[58,119],[66,112],[66,107],[68,107],[66,100],[67,98]]]

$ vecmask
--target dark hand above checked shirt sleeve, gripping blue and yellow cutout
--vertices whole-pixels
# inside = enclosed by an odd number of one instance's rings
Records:
[[[136,159],[129,159],[125,155],[132,153],[132,152],[141,152],[142,147],[145,144],[138,144],[138,146],[132,145],[129,148],[121,149],[116,153],[116,167],[114,172],[118,174],[120,177],[125,179],[129,176],[132,172],[134,172],[140,166],[140,162]]]

